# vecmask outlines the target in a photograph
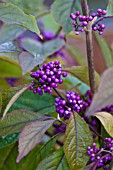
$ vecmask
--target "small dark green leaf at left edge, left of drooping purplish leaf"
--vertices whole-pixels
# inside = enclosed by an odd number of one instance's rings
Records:
[[[6,147],[9,144],[16,142],[19,138],[19,134],[10,134],[6,136],[0,136],[0,149]]]

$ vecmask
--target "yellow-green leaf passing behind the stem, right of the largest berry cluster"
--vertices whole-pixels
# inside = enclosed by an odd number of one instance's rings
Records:
[[[65,68],[64,69],[66,72],[72,74],[73,76],[77,77],[79,80],[81,80],[82,82],[86,83],[87,85],[89,85],[89,74],[88,74],[88,67],[84,67],[84,66],[73,66],[70,68]],[[98,73],[95,71],[95,81],[96,81],[96,85],[98,86],[99,83],[99,75]]]

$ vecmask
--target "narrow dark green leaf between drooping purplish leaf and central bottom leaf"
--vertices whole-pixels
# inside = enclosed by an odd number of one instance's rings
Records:
[[[47,141],[42,148],[39,150],[37,158],[36,158],[36,164],[38,165],[39,162],[41,162],[44,158],[48,157],[50,153],[52,153],[53,146],[58,139],[59,135],[53,136],[49,141]]]

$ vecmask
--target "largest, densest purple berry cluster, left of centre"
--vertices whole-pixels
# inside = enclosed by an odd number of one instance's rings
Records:
[[[58,84],[62,84],[62,77],[66,77],[67,73],[62,71],[62,65],[58,60],[43,64],[36,72],[31,73],[31,77],[35,78],[30,86],[34,94],[43,95],[45,93],[52,93],[52,88],[57,88]]]

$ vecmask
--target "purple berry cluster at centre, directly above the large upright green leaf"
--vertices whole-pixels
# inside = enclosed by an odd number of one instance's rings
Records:
[[[59,113],[60,117],[69,119],[72,111],[80,113],[83,109],[84,101],[81,99],[80,95],[75,92],[67,92],[66,100],[58,97],[55,99],[56,112]]]

